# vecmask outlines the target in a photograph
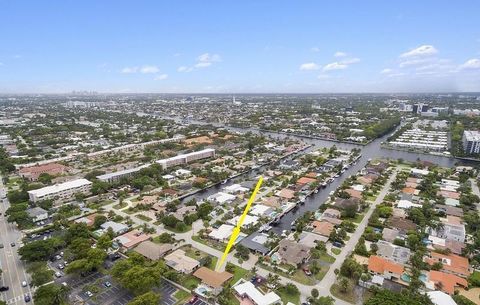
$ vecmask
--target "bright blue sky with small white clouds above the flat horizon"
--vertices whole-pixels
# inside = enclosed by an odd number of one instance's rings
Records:
[[[480,91],[479,1],[0,0],[0,92]]]

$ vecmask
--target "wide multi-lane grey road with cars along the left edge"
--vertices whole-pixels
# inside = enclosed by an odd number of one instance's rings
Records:
[[[2,177],[0,176],[0,243],[4,245],[0,249],[0,268],[2,269],[2,286],[9,286],[10,290],[2,292],[0,299],[7,302],[7,304],[26,304],[24,295],[28,293],[32,296],[30,287],[22,287],[22,281],[30,282],[27,273],[25,272],[25,265],[20,260],[17,249],[21,246],[22,234],[15,225],[7,222],[4,214],[10,206],[8,199],[3,199],[6,190],[3,185]],[[11,247],[10,243],[15,242],[16,246]]]

